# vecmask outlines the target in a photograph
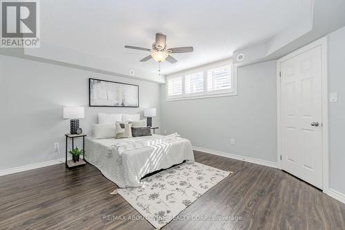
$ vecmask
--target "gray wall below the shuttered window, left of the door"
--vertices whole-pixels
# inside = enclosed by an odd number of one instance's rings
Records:
[[[276,61],[237,71],[237,96],[166,102],[161,85],[161,132],[177,132],[193,146],[277,162]]]

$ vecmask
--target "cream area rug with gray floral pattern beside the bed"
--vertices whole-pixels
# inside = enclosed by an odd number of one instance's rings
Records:
[[[118,189],[117,193],[160,229],[228,175],[230,172],[185,162],[144,178],[144,187]]]

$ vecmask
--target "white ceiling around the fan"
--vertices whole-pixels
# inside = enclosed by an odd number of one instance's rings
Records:
[[[153,59],[139,62],[148,52],[124,45],[150,48],[155,33],[163,32],[168,47],[195,49],[174,54],[176,64],[164,61],[161,73],[166,75],[231,57],[234,50],[262,43],[307,20],[312,0],[45,0],[40,7],[41,48],[31,49],[29,55],[157,74]]]

